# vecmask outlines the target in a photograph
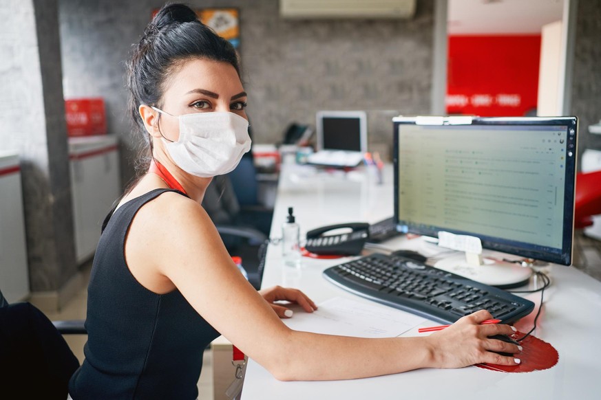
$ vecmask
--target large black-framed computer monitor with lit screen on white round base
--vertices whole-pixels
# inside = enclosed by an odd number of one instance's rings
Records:
[[[398,117],[393,126],[399,232],[475,236],[483,249],[571,265],[576,117]],[[497,287],[531,274],[498,256],[474,266],[463,253],[434,266]]]

